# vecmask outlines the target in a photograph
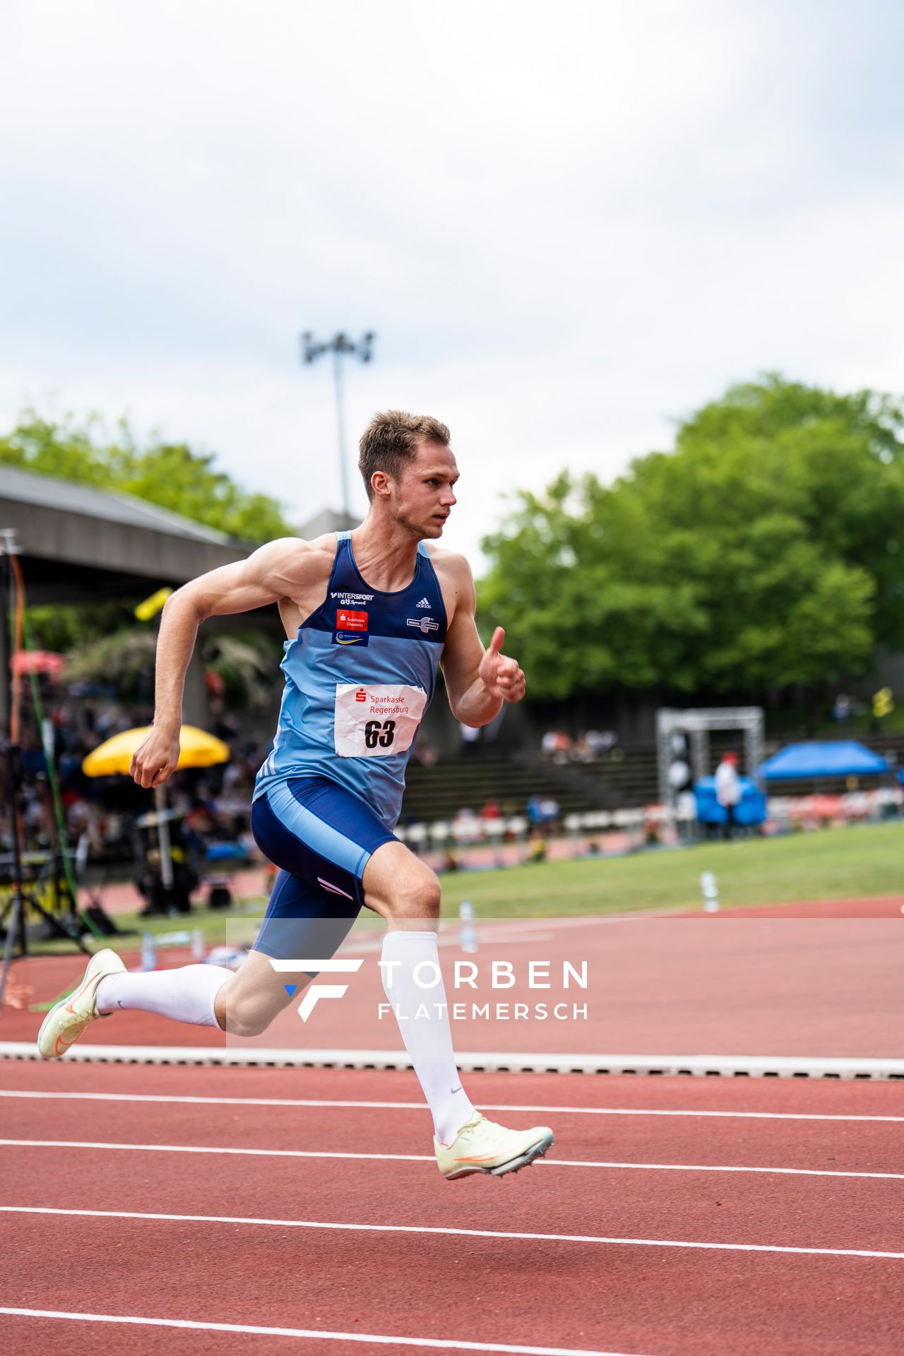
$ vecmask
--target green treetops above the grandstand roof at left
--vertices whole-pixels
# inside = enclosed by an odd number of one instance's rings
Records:
[[[0,464],[125,491],[255,545],[293,533],[278,502],[243,490],[213,453],[159,438],[142,446],[125,419],[111,433],[98,418],[57,423],[26,411],[0,435]]]

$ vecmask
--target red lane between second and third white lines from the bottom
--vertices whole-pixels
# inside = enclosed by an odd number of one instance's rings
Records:
[[[446,1182],[408,1161],[20,1147],[0,1161],[14,1207],[904,1252],[904,1181],[527,1169]]]

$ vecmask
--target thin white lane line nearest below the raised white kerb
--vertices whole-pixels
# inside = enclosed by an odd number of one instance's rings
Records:
[[[375,1111],[426,1111],[424,1102],[378,1102],[325,1100],[319,1097],[169,1097],[164,1093],[75,1093],[34,1092],[19,1088],[0,1088],[0,1097],[33,1097],[61,1101],[123,1101],[171,1102],[201,1106],[336,1106]],[[480,1104],[484,1111],[539,1111],[573,1116],[713,1116],[731,1120],[858,1120],[904,1123],[904,1116],[832,1116],[789,1111],[660,1111],[646,1106],[538,1106],[514,1102]]]

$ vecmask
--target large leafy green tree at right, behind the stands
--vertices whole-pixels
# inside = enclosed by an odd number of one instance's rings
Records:
[[[482,598],[534,696],[752,692],[904,647],[904,411],[763,377],[611,487],[520,492]]]

